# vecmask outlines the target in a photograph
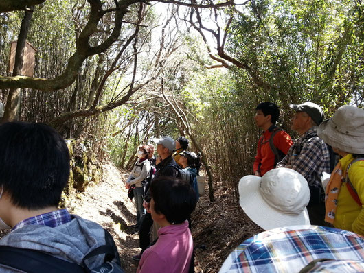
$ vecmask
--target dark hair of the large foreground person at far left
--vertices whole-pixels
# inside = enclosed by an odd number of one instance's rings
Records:
[[[42,123],[3,123],[0,154],[0,185],[14,206],[58,206],[69,178],[69,150],[56,130]]]

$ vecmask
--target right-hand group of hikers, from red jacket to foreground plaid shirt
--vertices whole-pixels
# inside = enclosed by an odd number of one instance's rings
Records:
[[[294,142],[275,126],[277,105],[256,108],[263,135],[254,175],[238,189],[240,206],[266,231],[231,252],[220,273],[364,272],[364,109],[341,106],[324,120],[312,102],[289,107]]]

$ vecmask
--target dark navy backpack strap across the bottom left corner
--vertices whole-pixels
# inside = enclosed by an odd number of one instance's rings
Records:
[[[56,258],[38,250],[0,246],[0,264],[28,273],[84,273],[76,263]]]

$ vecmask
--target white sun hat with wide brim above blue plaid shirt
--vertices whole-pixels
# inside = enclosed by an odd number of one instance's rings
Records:
[[[306,209],[310,189],[304,176],[293,169],[271,169],[263,177],[244,176],[239,195],[244,212],[264,230],[310,224]]]

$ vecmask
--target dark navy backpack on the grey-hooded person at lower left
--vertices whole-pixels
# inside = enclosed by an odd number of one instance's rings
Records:
[[[0,246],[0,264],[29,273],[124,273],[115,241],[104,229],[105,244],[89,252],[83,259],[82,265],[45,254],[38,250]],[[105,254],[104,263],[96,268],[89,268],[85,261],[91,257]],[[19,262],[21,261],[21,262]]]

